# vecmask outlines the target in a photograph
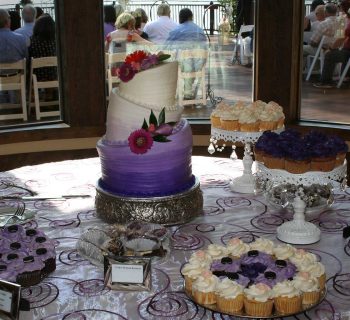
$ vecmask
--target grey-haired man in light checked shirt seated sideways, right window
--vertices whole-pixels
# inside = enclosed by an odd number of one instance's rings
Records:
[[[335,35],[338,28],[336,17],[337,11],[338,8],[334,3],[327,3],[325,5],[325,20],[319,23],[310,37],[309,44],[303,46],[304,66],[306,65],[306,57],[308,55],[315,55],[323,36],[325,36],[323,42],[324,49],[330,48],[335,41]]]

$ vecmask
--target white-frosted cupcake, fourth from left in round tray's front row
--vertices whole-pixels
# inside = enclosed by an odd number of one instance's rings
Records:
[[[272,289],[272,295],[279,314],[291,314],[301,310],[301,291],[291,281],[277,283]]]

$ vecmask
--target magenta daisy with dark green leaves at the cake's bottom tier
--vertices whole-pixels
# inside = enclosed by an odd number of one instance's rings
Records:
[[[151,110],[149,124],[143,120],[142,129],[132,132],[128,138],[132,152],[142,154],[151,149],[153,141],[169,142],[167,136],[173,132],[174,122],[165,123],[165,109],[159,113],[158,119]]]

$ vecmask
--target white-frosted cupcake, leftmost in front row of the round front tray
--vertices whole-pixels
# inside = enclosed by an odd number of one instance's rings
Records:
[[[192,295],[199,304],[216,303],[215,289],[219,279],[209,270],[205,270],[192,284]]]

